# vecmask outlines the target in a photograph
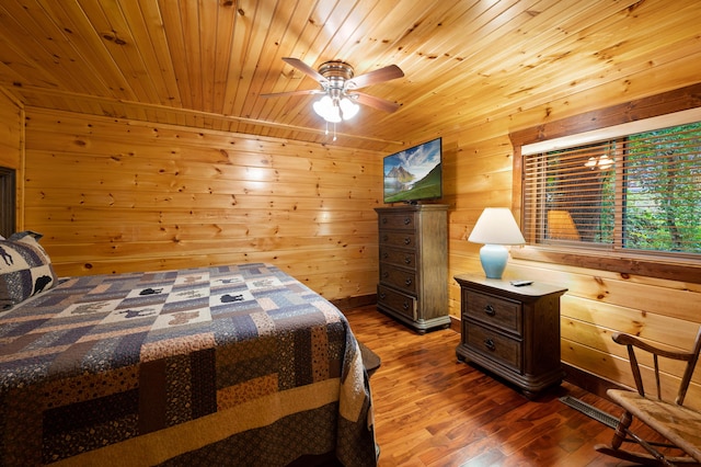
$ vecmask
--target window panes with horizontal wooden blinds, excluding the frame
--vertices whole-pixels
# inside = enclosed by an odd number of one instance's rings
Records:
[[[522,164],[529,243],[701,254],[701,123],[526,155]]]

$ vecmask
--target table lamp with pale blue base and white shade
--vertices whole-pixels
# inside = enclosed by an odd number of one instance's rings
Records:
[[[468,241],[484,243],[480,262],[489,278],[502,278],[508,261],[505,244],[524,244],[526,240],[507,207],[487,207],[474,225]]]

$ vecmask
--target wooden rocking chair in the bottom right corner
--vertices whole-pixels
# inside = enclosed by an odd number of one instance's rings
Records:
[[[596,451],[623,460],[651,466],[701,465],[701,412],[683,407],[683,399],[699,360],[699,351],[701,351],[701,328],[691,352],[665,351],[623,333],[614,334],[613,341],[628,346],[637,392],[619,389],[609,389],[607,391],[608,396],[624,409],[624,412],[618,422],[611,445],[599,444],[595,446]],[[653,354],[657,384],[656,398],[645,395],[634,348]],[[659,356],[687,362],[674,403],[662,399],[657,362]],[[631,431],[633,417],[636,417],[637,420],[663,435],[670,444],[647,442],[637,436]],[[637,443],[650,454],[622,449],[621,445],[623,443]],[[674,451],[678,451],[678,455],[676,457],[663,455],[659,447],[675,448]]]

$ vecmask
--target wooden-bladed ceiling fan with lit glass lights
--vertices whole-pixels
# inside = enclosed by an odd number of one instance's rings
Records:
[[[338,123],[342,119],[355,116],[358,112],[357,103],[384,112],[394,112],[400,106],[395,102],[357,91],[370,84],[403,77],[404,72],[397,65],[390,65],[355,77],[353,67],[342,60],[325,61],[321,64],[319,70],[314,70],[298,58],[284,57],[283,60],[317,80],[322,89],[261,94],[262,98],[325,94],[321,100],[314,102],[313,109],[329,123]]]

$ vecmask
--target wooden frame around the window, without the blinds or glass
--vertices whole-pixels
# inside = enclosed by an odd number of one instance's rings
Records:
[[[620,125],[635,125],[640,121],[698,107],[701,107],[701,83],[510,133],[509,138],[514,148],[512,197],[514,216],[522,226],[522,147],[547,145],[548,141],[574,138],[575,135],[600,135]],[[582,248],[564,242],[563,244],[528,244],[512,248],[512,255],[521,260],[614,272],[624,278],[631,275],[643,275],[701,284],[701,259],[670,258],[657,252],[642,254],[619,250],[584,251]]]

